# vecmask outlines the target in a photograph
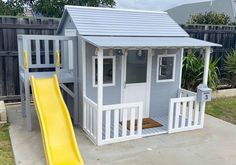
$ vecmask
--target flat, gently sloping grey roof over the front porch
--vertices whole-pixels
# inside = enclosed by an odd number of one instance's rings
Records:
[[[104,37],[83,36],[87,42],[104,48],[111,47],[211,47],[221,45],[190,37]]]

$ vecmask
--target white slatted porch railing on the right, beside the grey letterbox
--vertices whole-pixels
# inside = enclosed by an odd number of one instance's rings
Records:
[[[197,101],[196,93],[180,89],[179,94],[180,98],[172,98],[169,102],[168,132],[202,128],[205,108]]]

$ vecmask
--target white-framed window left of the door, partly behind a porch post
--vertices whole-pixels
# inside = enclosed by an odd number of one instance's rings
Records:
[[[104,86],[115,85],[115,57],[103,57],[103,84]],[[93,57],[93,86],[98,83],[98,58]]]

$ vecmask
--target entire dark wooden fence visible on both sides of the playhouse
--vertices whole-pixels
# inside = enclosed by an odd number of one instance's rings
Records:
[[[19,98],[17,34],[46,34],[56,32],[59,19],[0,17],[0,100]],[[226,52],[236,48],[236,26],[181,25],[193,38],[222,44],[214,48],[213,57],[220,58],[223,68]],[[17,96],[17,97],[15,97]]]

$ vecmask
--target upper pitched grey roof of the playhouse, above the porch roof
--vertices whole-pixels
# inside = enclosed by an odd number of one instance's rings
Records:
[[[82,36],[189,36],[166,12],[65,6],[66,14]]]

